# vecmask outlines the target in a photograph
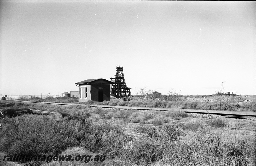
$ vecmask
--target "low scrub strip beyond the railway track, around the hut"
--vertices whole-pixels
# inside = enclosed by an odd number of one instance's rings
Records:
[[[182,96],[177,92],[169,92],[163,96],[157,91],[144,92],[145,96],[125,97],[121,99],[112,98],[110,101],[95,102],[88,101],[84,104],[97,105],[118,105],[118,106],[140,106],[140,107],[160,107],[180,109],[202,109],[202,110],[230,110],[230,111],[256,111],[255,96],[225,96],[225,95],[202,95],[202,96]],[[71,97],[40,97],[21,98],[25,101],[55,102],[55,103],[77,103],[78,98]]]

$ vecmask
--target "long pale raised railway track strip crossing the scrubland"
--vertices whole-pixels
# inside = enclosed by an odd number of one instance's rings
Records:
[[[34,102],[34,101],[20,101],[16,102],[30,102],[30,103],[41,103],[41,104],[55,104],[55,105],[76,105],[76,106],[89,106],[89,107],[100,107],[100,108],[113,108],[113,109],[136,109],[136,110],[155,110],[155,111],[170,111],[169,108],[154,108],[154,107],[129,107],[129,106],[110,106],[110,105],[88,105],[79,103],[55,103],[55,102]],[[245,111],[216,111],[216,110],[200,110],[200,109],[181,109],[186,113],[196,114],[211,114],[221,115],[233,118],[255,118],[256,112],[245,112]]]

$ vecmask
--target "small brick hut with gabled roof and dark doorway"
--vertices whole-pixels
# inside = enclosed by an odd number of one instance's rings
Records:
[[[79,102],[110,100],[111,81],[102,78],[87,79],[75,84],[79,87]]]

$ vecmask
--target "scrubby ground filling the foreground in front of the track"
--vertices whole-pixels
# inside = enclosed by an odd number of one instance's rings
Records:
[[[60,114],[33,115],[29,109]],[[184,113],[178,107],[170,110],[100,109],[4,100],[0,101],[0,149],[10,155],[106,155],[104,162],[87,163],[100,166],[255,165],[256,121],[209,119]],[[135,139],[126,131],[146,135]],[[80,166],[84,162],[38,164]]]

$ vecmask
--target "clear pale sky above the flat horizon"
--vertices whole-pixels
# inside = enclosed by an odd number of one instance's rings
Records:
[[[254,1],[0,1],[1,95],[116,75],[133,95],[256,94]]]

